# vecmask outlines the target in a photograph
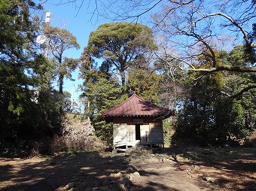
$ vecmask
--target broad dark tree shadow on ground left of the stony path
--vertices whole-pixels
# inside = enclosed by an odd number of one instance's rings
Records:
[[[4,160],[2,159],[2,162]],[[99,187],[114,183],[127,173],[129,163],[120,156],[102,156],[96,152],[65,153],[50,158],[5,159],[1,165],[0,189],[55,190],[68,183],[75,189]]]

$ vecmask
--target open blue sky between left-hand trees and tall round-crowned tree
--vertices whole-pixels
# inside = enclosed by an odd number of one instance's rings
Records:
[[[44,5],[44,16],[46,11],[50,11],[51,26],[67,29],[77,38],[78,44],[80,44],[80,49],[66,50],[64,56],[69,58],[80,58],[84,47],[87,46],[90,32],[95,31],[100,24],[108,22],[107,20],[99,20],[96,15],[93,16],[90,14],[95,8],[93,2],[88,4],[87,1],[84,1],[84,4],[79,11],[78,8],[75,8],[75,5],[72,4],[56,5],[60,2],[57,0],[48,0],[46,2],[44,1],[44,3],[41,0],[35,0],[34,2]],[[83,82],[82,79],[78,79],[78,73],[77,70],[72,74],[72,77],[75,79],[74,82],[67,79],[64,81],[64,90],[70,93],[72,93],[72,83],[75,83],[75,100],[77,100],[78,96],[81,94],[78,90],[78,85]]]

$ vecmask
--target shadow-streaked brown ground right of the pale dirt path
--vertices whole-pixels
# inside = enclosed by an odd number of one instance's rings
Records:
[[[256,147],[170,147],[165,152],[173,156],[177,169],[201,174],[202,181],[213,177],[212,185],[221,189],[256,190]],[[196,171],[195,165],[200,167]]]

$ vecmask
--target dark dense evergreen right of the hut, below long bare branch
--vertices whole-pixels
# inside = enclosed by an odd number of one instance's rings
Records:
[[[236,55],[233,53],[233,51],[230,54],[216,52],[215,55],[220,55],[216,57],[218,66],[223,62],[225,65],[233,65],[237,62],[240,62],[239,65],[245,65],[245,59],[242,60],[239,53]],[[231,61],[235,57],[236,62]],[[206,58],[205,65],[201,67],[208,67],[207,60]],[[179,138],[192,138],[192,141],[203,145],[224,144],[227,141],[239,141],[245,138],[248,132],[245,117],[248,117],[246,111],[248,108],[244,107],[243,97],[251,96],[253,89],[246,91],[240,98],[236,92],[241,92],[239,88],[244,80],[248,84],[249,76],[251,74],[229,72],[203,75],[190,73],[190,79],[200,78],[200,80],[187,81],[190,95],[184,102],[184,109],[178,115],[176,135]],[[236,95],[236,99],[233,99],[233,95]],[[253,100],[252,98],[253,96],[246,100]]]

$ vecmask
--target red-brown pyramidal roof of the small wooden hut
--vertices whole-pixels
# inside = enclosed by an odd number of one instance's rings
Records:
[[[145,101],[133,92],[130,98],[126,99],[120,105],[111,108],[103,113],[104,117],[117,117],[117,116],[151,116],[151,117],[169,117],[172,114],[166,108],[160,108],[151,102]]]

